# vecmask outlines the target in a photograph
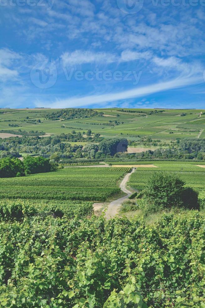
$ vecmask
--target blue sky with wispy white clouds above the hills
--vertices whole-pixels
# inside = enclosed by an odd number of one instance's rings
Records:
[[[0,107],[205,108],[205,0],[0,8]]]

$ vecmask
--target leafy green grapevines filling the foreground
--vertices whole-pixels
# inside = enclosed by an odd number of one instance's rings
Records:
[[[205,307],[205,220],[103,217],[0,222],[4,307]]]

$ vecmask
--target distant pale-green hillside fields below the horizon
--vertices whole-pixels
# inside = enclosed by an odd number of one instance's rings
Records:
[[[55,109],[55,111],[57,110]],[[92,118],[52,121],[45,119],[45,115],[52,113],[53,109],[0,109],[0,130],[38,130],[50,134],[60,134],[71,133],[73,129],[81,133],[91,129],[93,133],[100,133],[104,138],[123,136],[131,140],[138,140],[138,136],[149,136],[152,139],[162,141],[185,137],[196,138],[200,132],[202,132],[200,138],[205,136],[205,115],[201,115],[204,110],[166,109],[163,112],[151,115],[148,113],[155,109],[125,108],[123,109],[124,111],[120,111],[122,109],[108,108],[95,110],[103,112],[104,115],[96,115]],[[156,110],[159,111],[160,109]],[[135,111],[135,113],[131,111]],[[142,113],[137,113],[136,111]],[[186,115],[181,116],[181,113],[186,113]],[[145,116],[142,116],[143,114]],[[26,119],[26,117],[29,117],[29,119]],[[32,124],[24,121],[37,119],[40,119],[41,123]],[[110,126],[109,124],[114,123],[114,121],[119,124]],[[17,124],[18,127],[9,126],[9,124]]]

